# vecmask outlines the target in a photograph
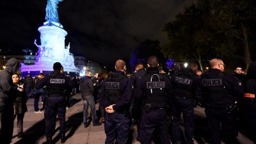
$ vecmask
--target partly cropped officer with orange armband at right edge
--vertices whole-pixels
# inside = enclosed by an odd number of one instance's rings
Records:
[[[243,113],[245,122],[248,124],[250,136],[256,143],[256,61],[248,68],[246,80],[244,83],[244,97],[243,97]]]

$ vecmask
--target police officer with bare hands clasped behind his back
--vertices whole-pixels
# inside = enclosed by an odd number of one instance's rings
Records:
[[[115,72],[102,83],[100,105],[106,109],[105,133],[106,144],[113,144],[115,138],[120,144],[125,144],[129,134],[129,117],[132,86],[128,77],[125,77],[125,62],[117,60]],[[116,136],[117,134],[117,136]]]

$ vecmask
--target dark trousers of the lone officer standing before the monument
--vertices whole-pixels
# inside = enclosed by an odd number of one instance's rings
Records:
[[[45,104],[45,136],[51,138],[54,135],[54,128],[56,123],[56,114],[60,119],[60,133],[63,134],[66,131],[66,106],[65,97],[59,96],[49,96]]]

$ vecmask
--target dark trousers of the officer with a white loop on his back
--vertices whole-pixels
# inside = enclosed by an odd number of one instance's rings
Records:
[[[150,144],[154,131],[162,144],[170,144],[166,124],[166,111],[164,109],[152,109],[149,113],[143,111],[140,122],[140,142]]]

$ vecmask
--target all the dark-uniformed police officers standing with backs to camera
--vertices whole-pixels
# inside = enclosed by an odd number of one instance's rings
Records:
[[[151,143],[152,140],[164,144],[180,143],[181,113],[184,119],[185,141],[188,144],[194,143],[194,100],[205,106],[210,143],[221,143],[221,129],[225,143],[239,143],[236,139],[236,100],[241,97],[246,107],[244,118],[250,124],[252,135],[255,135],[256,63],[252,63],[248,70],[248,78],[244,81],[245,90],[236,77],[223,72],[225,64],[222,60],[214,58],[209,61],[209,65],[210,70],[200,77],[196,76],[198,65],[194,62],[169,77],[159,73],[157,57],[150,56],[147,60],[147,70],[142,64],[138,64],[136,73],[129,79],[125,77],[125,61],[117,60],[115,72],[102,83],[99,95],[100,105],[106,111],[105,143],[127,143],[131,125],[130,111],[132,118],[137,122],[138,140],[141,143]],[[35,87],[47,87],[44,113],[46,143],[52,143],[56,115],[60,118],[61,143],[65,143],[67,128],[63,92],[67,88],[73,88],[75,84],[62,74],[61,63],[54,63],[53,69],[54,71],[38,81]],[[172,112],[172,134],[169,134],[166,126],[168,111]],[[3,125],[1,131],[2,128]]]

